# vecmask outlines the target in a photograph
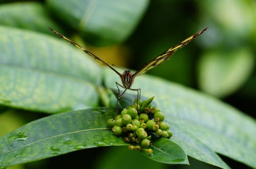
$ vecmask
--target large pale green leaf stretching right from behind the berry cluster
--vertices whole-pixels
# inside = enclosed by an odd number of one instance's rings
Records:
[[[119,80],[113,74],[105,70],[105,84],[111,88]],[[154,76],[137,77],[133,88],[141,88],[143,96],[155,96],[174,133],[171,139],[189,156],[228,168],[217,152],[256,167],[254,119],[215,98]]]

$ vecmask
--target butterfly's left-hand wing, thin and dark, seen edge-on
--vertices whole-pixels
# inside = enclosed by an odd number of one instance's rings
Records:
[[[71,44],[73,44],[74,46],[78,47],[79,49],[82,49],[84,52],[86,52],[87,54],[89,54],[90,57],[94,58],[94,59],[95,59],[96,61],[98,61],[100,64],[103,64],[103,65],[105,65],[105,66],[110,67],[112,70],[114,70],[114,72],[116,72],[120,77],[122,77],[121,74],[120,74],[116,69],[114,69],[112,66],[110,66],[110,65],[107,64],[106,62],[102,61],[100,58],[98,58],[95,54],[91,53],[91,52],[90,52],[89,50],[87,50],[86,48],[84,48],[84,47],[78,45],[77,43],[75,43],[74,41],[70,40],[70,39],[67,38],[66,36],[64,36],[64,35],[62,35],[62,34],[60,34],[60,33],[58,33],[57,31],[53,30],[51,27],[49,27],[49,29],[50,29],[54,34],[56,34],[56,35],[58,35],[59,37],[65,39],[66,41],[70,42]]]

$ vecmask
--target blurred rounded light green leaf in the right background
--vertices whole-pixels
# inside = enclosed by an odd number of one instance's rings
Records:
[[[205,53],[199,62],[199,86],[204,92],[217,97],[230,95],[249,78],[254,63],[248,48]]]

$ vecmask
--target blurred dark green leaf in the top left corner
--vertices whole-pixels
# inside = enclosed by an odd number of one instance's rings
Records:
[[[47,10],[37,2],[9,3],[0,5],[0,23],[13,27],[24,28],[51,34],[48,26],[58,26],[47,13]]]

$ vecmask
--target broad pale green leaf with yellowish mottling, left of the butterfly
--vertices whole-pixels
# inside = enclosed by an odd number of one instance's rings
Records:
[[[60,112],[97,106],[100,69],[72,45],[0,26],[0,104]]]

